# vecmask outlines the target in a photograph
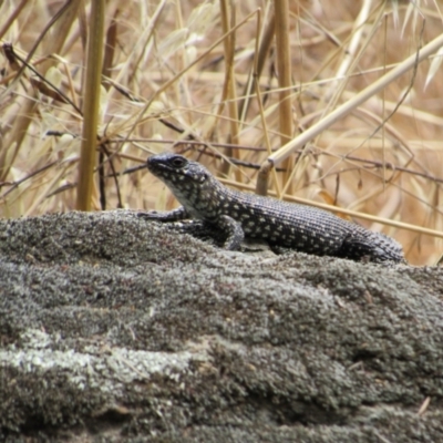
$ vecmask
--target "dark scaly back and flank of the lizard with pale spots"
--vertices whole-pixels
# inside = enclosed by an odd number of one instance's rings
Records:
[[[402,247],[392,238],[322,209],[233,189],[224,205],[245,234],[272,245],[352,259],[403,260]]]

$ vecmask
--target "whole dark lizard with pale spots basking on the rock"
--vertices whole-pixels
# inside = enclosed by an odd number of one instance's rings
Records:
[[[318,256],[404,262],[401,245],[391,237],[313,206],[230,189],[205,166],[182,155],[153,155],[146,166],[182,206],[165,213],[141,212],[140,216],[158,222],[202,220],[226,236],[226,249],[239,249],[247,236],[271,247]]]

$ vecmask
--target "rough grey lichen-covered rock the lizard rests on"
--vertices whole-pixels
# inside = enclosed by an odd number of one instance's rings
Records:
[[[0,441],[443,441],[442,296],[128,212],[2,220]]]

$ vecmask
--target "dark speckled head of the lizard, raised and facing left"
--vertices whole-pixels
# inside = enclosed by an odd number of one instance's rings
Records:
[[[171,188],[177,186],[183,188],[184,185],[198,186],[210,176],[199,163],[178,154],[153,155],[147,158],[146,165],[152,174]]]

